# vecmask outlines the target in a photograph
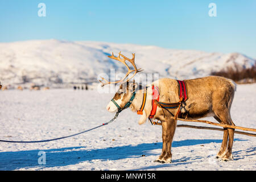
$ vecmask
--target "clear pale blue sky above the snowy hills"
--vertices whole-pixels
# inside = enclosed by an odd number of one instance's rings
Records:
[[[46,17],[38,4],[46,4]],[[209,3],[217,16],[210,17]],[[256,1],[0,0],[0,42],[95,40],[256,58]]]

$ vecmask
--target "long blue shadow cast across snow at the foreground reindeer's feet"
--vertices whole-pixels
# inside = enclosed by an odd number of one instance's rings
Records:
[[[241,140],[241,139],[235,139]],[[172,142],[172,147],[193,146],[197,144],[221,143],[218,139],[187,139]],[[162,142],[142,143],[137,146],[121,146],[86,150],[86,147],[66,147],[42,150],[46,152],[46,164],[38,164],[41,150],[0,152],[0,170],[14,170],[31,167],[58,167],[99,160],[118,160],[126,158],[140,158],[142,154],[151,154],[150,150],[161,149]]]

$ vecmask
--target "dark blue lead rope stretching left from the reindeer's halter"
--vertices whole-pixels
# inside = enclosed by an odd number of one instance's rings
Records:
[[[76,133],[76,134],[73,134],[73,135],[68,135],[68,136],[66,136],[66,137],[53,138],[53,139],[48,139],[48,140],[36,140],[36,141],[11,141],[11,140],[0,140],[0,142],[9,142],[9,143],[39,143],[39,142],[50,142],[50,141],[53,141],[53,140],[59,140],[59,139],[63,139],[63,138],[69,138],[69,137],[73,137],[73,136],[80,135],[80,134],[82,134],[82,133],[85,133],[85,132],[88,132],[88,131],[97,129],[98,127],[101,127],[101,126],[108,125],[109,123],[113,122],[113,121],[118,117],[118,114],[119,114],[119,112],[117,112],[117,113],[115,114],[115,117],[112,118],[109,122],[103,123],[103,124],[100,125],[100,126],[96,126],[96,127],[93,127],[92,129],[85,130],[85,131],[81,131],[80,133]]]

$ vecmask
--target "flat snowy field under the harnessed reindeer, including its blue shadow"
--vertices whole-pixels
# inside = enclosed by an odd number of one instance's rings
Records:
[[[256,84],[237,86],[231,110],[237,126],[256,128],[255,91]],[[114,117],[105,109],[112,97],[72,89],[0,92],[0,139],[51,139],[101,125]],[[222,162],[215,158],[222,132],[188,128],[176,129],[172,163],[154,163],[162,151],[162,129],[149,122],[139,126],[138,119],[127,109],[110,125],[76,137],[47,143],[1,142],[0,170],[256,170],[255,137],[235,134],[234,160]],[[46,164],[38,162],[40,151],[45,152]]]

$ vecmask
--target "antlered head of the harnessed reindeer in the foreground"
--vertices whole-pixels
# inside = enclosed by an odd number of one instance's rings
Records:
[[[123,58],[121,59],[120,56],[122,56]],[[134,99],[135,90],[137,89],[138,84],[135,83],[135,81],[129,82],[129,80],[131,80],[131,78],[133,78],[136,75],[136,73],[141,72],[142,70],[137,69],[137,67],[134,63],[135,53],[133,53],[133,58],[132,59],[129,59],[126,56],[123,56],[121,54],[121,52],[119,52],[118,57],[115,57],[113,55],[113,53],[112,53],[112,56],[108,56],[108,57],[110,57],[111,59],[120,61],[128,69],[128,72],[126,73],[125,77],[122,78],[122,80],[110,82],[110,81],[107,81],[105,78],[102,78],[102,77],[101,77],[102,80],[104,80],[105,82],[100,80],[100,82],[102,83],[101,86],[108,85],[108,84],[116,84],[118,82],[122,83],[119,86],[119,89],[118,89],[117,93],[115,93],[115,96],[113,97],[113,99],[109,102],[108,106],[106,106],[106,109],[108,111],[114,113],[114,112],[126,109],[127,107],[130,106],[131,102]],[[130,67],[126,64],[126,60],[129,61],[133,65],[134,69],[130,69]],[[131,72],[134,72],[133,75],[130,78],[127,78],[130,75]],[[127,78],[126,81],[124,81],[125,78]]]

